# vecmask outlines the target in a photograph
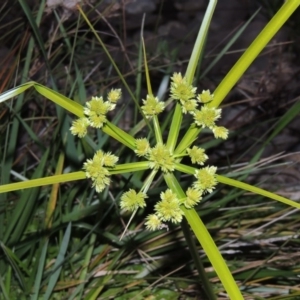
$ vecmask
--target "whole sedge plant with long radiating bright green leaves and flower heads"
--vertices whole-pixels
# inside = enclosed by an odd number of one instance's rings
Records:
[[[117,102],[122,97],[120,89],[113,88],[104,96],[95,95],[90,101],[86,102],[85,106],[36,82],[24,83],[0,95],[0,102],[3,102],[25,92],[29,88],[34,88],[39,94],[77,117],[70,124],[70,131],[79,139],[86,138],[90,130],[89,128],[95,128],[107,134],[111,139],[118,141],[123,146],[128,147],[135,154],[134,161],[122,163],[121,158],[114,153],[105,152],[100,149],[84,162],[82,170],[67,174],[61,174],[63,159],[59,159],[56,175],[2,184],[0,186],[0,193],[50,184],[57,187],[58,184],[63,182],[86,180],[87,178],[92,182],[91,187],[97,193],[101,193],[109,189],[110,182],[114,180],[114,175],[143,171],[145,179],[142,187],[139,189],[129,188],[121,196],[121,210],[130,211],[133,218],[137,211],[144,209],[148,201],[151,200],[148,192],[154,180],[162,178],[163,180],[160,180],[161,187],[166,186],[166,188],[160,193],[160,199],[154,204],[153,212],[145,219],[146,229],[150,231],[166,230],[170,226],[169,224],[182,224],[185,236],[189,240],[189,228],[186,226],[187,221],[220,278],[228,296],[230,299],[238,300],[243,299],[242,292],[206,226],[196,212],[195,207],[199,204],[202,197],[214,191],[218,183],[256,193],[295,208],[300,208],[300,205],[256,186],[219,174],[218,166],[205,164],[208,156],[205,154],[204,149],[201,148],[201,145],[197,144],[197,138],[201,134],[201,130],[206,128],[210,130],[212,138],[227,139],[228,134],[230,134],[228,130],[222,126],[218,126],[218,120],[221,118],[222,112],[221,108],[219,108],[220,104],[265,45],[296,10],[300,4],[300,0],[288,0],[284,3],[273,19],[266,25],[221,81],[216,90],[211,92],[205,89],[205,87],[199,89],[194,86],[193,79],[204,48],[216,3],[217,1],[215,0],[209,2],[185,74],[174,73],[171,77],[169,89],[170,101],[168,103],[161,101],[153,94],[147,67],[146,49],[144,49],[148,94],[137,105],[141,105],[140,113],[143,117],[142,122],[145,125],[143,132],[149,129],[150,132],[154,133],[154,138],[151,140],[148,138],[149,135],[147,133],[144,133],[144,136],[136,138],[133,134],[125,132],[109,121],[109,112],[118,107]],[[78,9],[111,59],[101,38],[89,23],[84,12],[80,7]],[[111,62],[120,74],[118,67],[112,59]],[[122,76],[121,79],[124,81]],[[126,82],[124,81],[123,83],[128,88]],[[170,103],[174,105],[168,114],[173,115],[169,132],[166,135],[162,130],[160,116],[165,113],[166,105]],[[184,118],[187,118],[190,122],[190,127],[186,132],[182,132],[181,130]],[[188,158],[193,166],[182,163],[183,158]],[[190,175],[192,178],[190,186],[183,188],[180,182],[180,175],[178,174]],[[51,227],[51,215],[46,216],[46,221],[48,226]],[[191,243],[188,244],[191,248],[193,247]],[[194,258],[197,260],[195,255]],[[207,296],[209,299],[215,299],[214,291],[199,261],[198,271]],[[39,286],[35,288],[38,289]]]

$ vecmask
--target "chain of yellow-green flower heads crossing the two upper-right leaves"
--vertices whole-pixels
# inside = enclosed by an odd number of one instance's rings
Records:
[[[171,80],[171,97],[174,100],[180,101],[182,112],[193,115],[195,124],[212,130],[215,138],[227,139],[228,130],[225,127],[215,124],[221,117],[221,109],[207,105],[213,100],[214,95],[209,90],[203,90],[196,97],[196,88],[188,84],[181,73],[174,73]],[[197,109],[199,104],[203,105],[200,109]]]

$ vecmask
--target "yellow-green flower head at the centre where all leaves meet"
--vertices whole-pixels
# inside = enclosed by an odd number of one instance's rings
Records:
[[[149,150],[149,167],[151,169],[161,168],[163,172],[174,171],[174,158],[165,145],[158,143]]]

